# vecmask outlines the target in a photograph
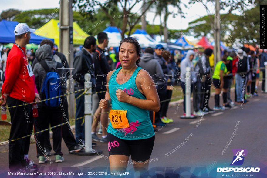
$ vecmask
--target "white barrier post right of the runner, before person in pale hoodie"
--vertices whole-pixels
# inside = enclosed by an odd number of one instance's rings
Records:
[[[191,116],[191,101],[190,101],[190,96],[191,96],[191,80],[190,80],[190,74],[191,74],[191,68],[186,67],[186,79],[185,79],[185,117],[190,117]]]

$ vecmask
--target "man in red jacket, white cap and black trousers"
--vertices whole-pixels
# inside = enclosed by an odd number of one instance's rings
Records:
[[[2,106],[8,107],[24,104],[21,107],[9,108],[11,129],[9,140],[21,138],[31,134],[33,126],[32,105],[25,105],[33,101],[39,101],[31,65],[25,55],[25,45],[29,44],[31,32],[25,23],[15,27],[15,44],[10,50],[6,62],[5,81],[2,86]],[[35,90],[36,89],[36,90]],[[30,167],[24,159],[28,153],[29,138],[9,142],[9,169],[12,172],[29,172]]]

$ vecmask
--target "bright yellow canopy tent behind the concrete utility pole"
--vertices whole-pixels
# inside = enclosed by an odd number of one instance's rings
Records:
[[[37,29],[34,33],[42,37],[54,39],[54,43],[59,46],[59,20],[51,19],[46,25]],[[74,45],[83,45],[84,40],[88,36],[90,35],[84,32],[76,22],[73,22]]]

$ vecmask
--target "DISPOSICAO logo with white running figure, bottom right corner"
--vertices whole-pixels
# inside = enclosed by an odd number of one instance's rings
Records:
[[[248,150],[246,149],[232,149],[234,157],[230,166],[240,166],[244,163]],[[217,172],[259,172],[259,167],[217,167]]]

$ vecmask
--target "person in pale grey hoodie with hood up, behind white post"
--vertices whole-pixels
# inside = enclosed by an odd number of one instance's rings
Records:
[[[194,59],[194,55],[195,55],[195,52],[193,50],[188,50],[185,58],[181,61],[181,64],[180,64],[180,68],[181,68],[181,87],[183,89],[183,93],[184,93],[184,116],[185,116],[185,83],[186,82],[191,82],[192,81],[192,76],[190,76],[189,80],[186,81],[186,68],[187,67],[190,67],[191,68],[191,72],[193,72],[193,62],[192,60]],[[191,88],[191,93],[193,91],[193,87],[190,87]]]

